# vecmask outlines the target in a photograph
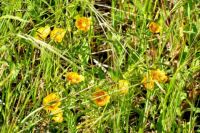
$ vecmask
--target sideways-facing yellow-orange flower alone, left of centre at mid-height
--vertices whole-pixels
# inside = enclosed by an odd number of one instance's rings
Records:
[[[85,79],[84,76],[79,75],[76,72],[68,72],[66,74],[66,78],[71,84],[80,83],[80,82],[84,81],[84,79]]]

